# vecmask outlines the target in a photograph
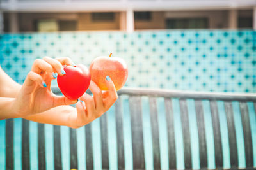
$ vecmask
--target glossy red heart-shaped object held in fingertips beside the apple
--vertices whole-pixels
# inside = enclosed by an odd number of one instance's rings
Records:
[[[64,66],[65,75],[57,77],[58,86],[68,99],[76,100],[88,89],[91,75],[88,68],[82,64]]]

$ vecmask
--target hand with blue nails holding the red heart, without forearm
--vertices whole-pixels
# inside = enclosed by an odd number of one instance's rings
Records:
[[[17,117],[33,115],[56,106],[77,102],[65,96],[56,96],[51,91],[52,79],[56,78],[57,74],[60,76],[65,74],[62,65],[73,65],[73,62],[67,57],[57,59],[44,57],[35,60],[13,103],[13,110]]]

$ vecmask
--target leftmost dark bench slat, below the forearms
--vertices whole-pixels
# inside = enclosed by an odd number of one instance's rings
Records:
[[[7,119],[5,126],[6,169],[14,169],[13,119]]]

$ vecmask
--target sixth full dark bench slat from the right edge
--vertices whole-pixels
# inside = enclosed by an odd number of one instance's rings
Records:
[[[170,98],[164,99],[166,124],[168,132],[168,155],[169,155],[169,169],[176,169],[176,151],[175,151],[175,135],[173,125],[173,109],[172,100]]]

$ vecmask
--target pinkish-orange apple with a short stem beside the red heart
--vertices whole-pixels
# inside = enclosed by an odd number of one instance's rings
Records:
[[[97,57],[90,65],[90,74],[101,90],[108,90],[105,79],[109,76],[115,84],[116,90],[124,86],[128,78],[128,68],[125,60],[119,57]]]

